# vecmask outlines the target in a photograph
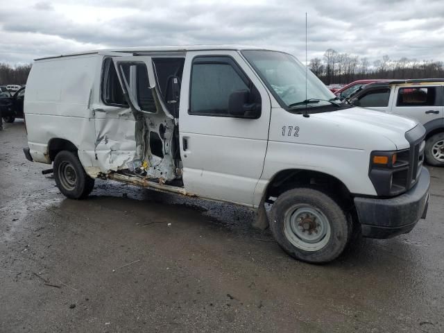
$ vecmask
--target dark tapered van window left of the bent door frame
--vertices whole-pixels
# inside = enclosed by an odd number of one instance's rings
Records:
[[[103,62],[102,100],[107,105],[128,106],[111,58]]]

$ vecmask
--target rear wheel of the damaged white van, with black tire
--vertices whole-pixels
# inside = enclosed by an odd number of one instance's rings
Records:
[[[53,170],[57,187],[67,198],[86,198],[94,188],[94,179],[83,169],[77,153],[60,151],[54,159]]]

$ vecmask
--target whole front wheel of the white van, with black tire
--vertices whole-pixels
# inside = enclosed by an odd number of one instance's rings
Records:
[[[292,212],[295,207],[297,210]],[[307,244],[303,239],[298,238],[296,232],[293,232],[291,237],[288,236],[289,228],[294,230],[293,224],[288,222],[289,219],[300,221],[300,223],[298,223],[298,228],[301,228],[300,230],[303,230],[302,232],[310,232],[311,235],[311,228],[310,230],[305,230],[305,220],[307,219],[307,216],[303,220],[302,217],[296,219],[296,216],[299,215],[295,216],[300,210],[303,212],[304,207],[309,207],[309,209],[313,210],[315,214],[317,213],[320,216],[323,216],[321,219],[324,221],[322,223],[324,228],[322,229],[319,224],[317,224],[318,226],[314,227],[316,228],[316,236],[318,231],[320,233],[319,237],[321,237],[322,231],[330,230],[330,233],[325,234],[323,239],[312,244],[314,247],[321,246],[321,248],[316,250],[314,248],[306,250],[304,245],[295,245],[295,239],[296,242],[302,241],[302,244]],[[305,213],[300,214],[303,215]],[[307,221],[313,223],[316,219],[308,219]],[[289,227],[289,223],[291,227]],[[303,227],[301,226],[301,223],[304,225]],[[318,228],[321,229],[318,230]],[[350,219],[347,218],[343,209],[323,191],[310,188],[298,188],[286,191],[276,199],[271,208],[270,229],[271,232],[273,232],[276,241],[278,241],[278,244],[285,252],[291,255],[291,257],[304,262],[321,264],[331,262],[341,255],[351,238],[352,223],[350,223]],[[300,233],[300,230],[297,232]],[[312,245],[309,244],[308,246]]]

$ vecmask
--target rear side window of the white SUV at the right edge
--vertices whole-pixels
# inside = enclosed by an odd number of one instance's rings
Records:
[[[405,87],[398,91],[396,106],[438,105],[436,87]]]

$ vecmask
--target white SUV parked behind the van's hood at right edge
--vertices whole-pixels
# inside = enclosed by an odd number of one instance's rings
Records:
[[[355,106],[417,119],[426,130],[425,158],[444,167],[444,79],[393,80],[367,85]]]

